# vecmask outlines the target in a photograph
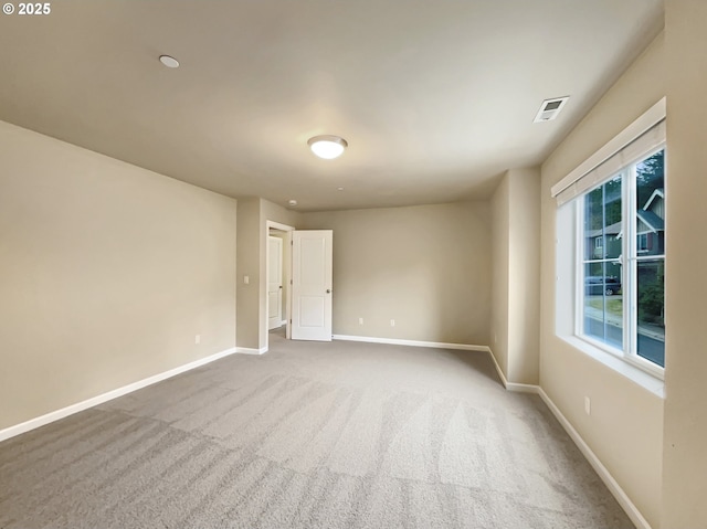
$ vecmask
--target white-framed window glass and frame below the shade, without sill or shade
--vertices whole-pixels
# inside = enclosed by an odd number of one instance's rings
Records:
[[[577,334],[661,368],[665,366],[664,160],[661,149],[578,199],[583,255],[577,275],[583,277],[584,287],[578,296]],[[654,235],[658,244],[651,247]],[[606,244],[592,247],[592,240]]]

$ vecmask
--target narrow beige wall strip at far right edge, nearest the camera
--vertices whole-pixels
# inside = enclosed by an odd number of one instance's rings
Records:
[[[667,0],[664,529],[707,527],[707,2]]]

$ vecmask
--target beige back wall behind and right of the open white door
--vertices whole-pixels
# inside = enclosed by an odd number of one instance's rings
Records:
[[[487,203],[306,213],[303,226],[334,230],[335,334],[488,345]]]

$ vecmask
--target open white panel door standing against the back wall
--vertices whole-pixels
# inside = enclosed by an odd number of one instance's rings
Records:
[[[292,339],[331,341],[331,230],[293,232]]]

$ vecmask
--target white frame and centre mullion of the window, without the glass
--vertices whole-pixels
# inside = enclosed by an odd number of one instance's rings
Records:
[[[637,353],[637,264],[641,261],[665,261],[665,254],[659,255],[641,255],[641,251],[637,247],[636,239],[637,222],[636,222],[636,165],[641,161],[652,157],[653,155],[665,150],[665,142],[658,147],[651,149],[645,155],[642,155],[639,159],[632,161],[627,167],[621,169],[618,173],[610,179],[621,176],[621,200],[622,212],[621,223],[622,233],[621,237],[621,255],[616,260],[597,260],[597,261],[614,261],[621,264],[621,289],[622,289],[622,348],[613,347],[611,343],[592,338],[584,332],[584,298],[587,295],[587,277],[584,275],[585,262],[584,256],[584,199],[585,197],[597,188],[592,188],[589,191],[582,193],[580,197],[573,200],[576,208],[576,233],[574,233],[574,247],[576,255],[576,295],[574,295],[574,336],[593,347],[597,347],[605,352],[609,352],[622,360],[631,363],[632,366],[648,372],[650,374],[663,380],[665,374],[665,368],[657,363],[647,360]],[[667,156],[667,155],[666,155]],[[667,174],[663,176],[664,179]],[[604,180],[600,186],[603,186]],[[665,186],[665,183],[664,183]],[[591,261],[591,260],[590,260]],[[604,309],[605,310],[605,309]]]

